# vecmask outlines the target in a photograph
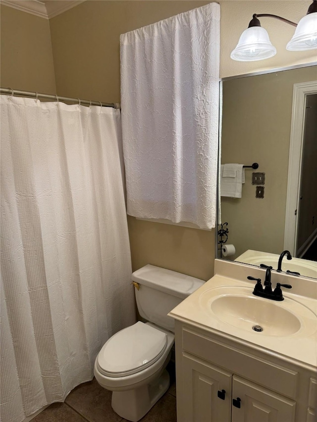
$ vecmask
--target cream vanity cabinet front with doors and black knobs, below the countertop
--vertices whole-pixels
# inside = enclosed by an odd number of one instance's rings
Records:
[[[177,422],[316,421],[309,369],[180,321],[175,345]]]

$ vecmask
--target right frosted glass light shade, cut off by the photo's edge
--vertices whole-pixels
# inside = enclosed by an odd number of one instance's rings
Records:
[[[298,23],[295,34],[286,49],[304,51],[317,48],[317,12],[304,16]]]

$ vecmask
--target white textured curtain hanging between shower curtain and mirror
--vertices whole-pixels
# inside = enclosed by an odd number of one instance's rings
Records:
[[[220,6],[120,37],[128,214],[215,227]]]

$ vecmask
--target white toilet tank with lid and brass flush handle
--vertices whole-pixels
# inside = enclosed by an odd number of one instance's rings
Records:
[[[141,317],[173,332],[174,319],[167,314],[205,283],[150,264],[135,271],[132,280],[140,284],[135,297]]]

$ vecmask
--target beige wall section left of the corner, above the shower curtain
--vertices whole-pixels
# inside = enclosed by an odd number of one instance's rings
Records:
[[[0,7],[1,87],[55,94],[49,20]]]

